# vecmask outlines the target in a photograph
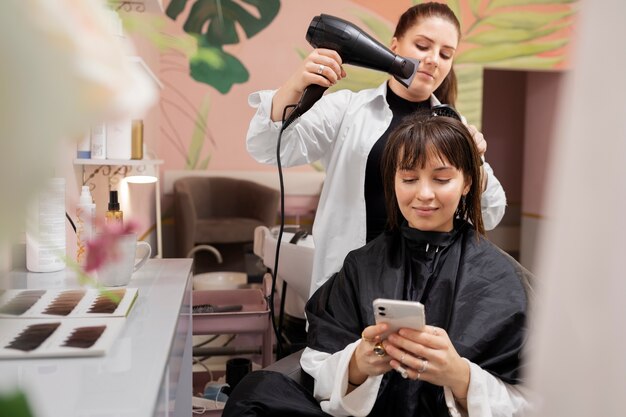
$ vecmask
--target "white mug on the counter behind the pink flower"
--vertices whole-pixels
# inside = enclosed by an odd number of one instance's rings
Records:
[[[121,236],[116,244],[117,258],[108,260],[96,272],[98,283],[105,287],[127,285],[133,272],[141,268],[152,253],[150,244],[137,242],[137,235],[134,233]]]

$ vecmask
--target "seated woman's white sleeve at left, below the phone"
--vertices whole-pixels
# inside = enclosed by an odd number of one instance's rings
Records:
[[[376,402],[382,375],[348,389],[350,359],[359,343],[361,339],[332,355],[306,348],[300,358],[302,369],[315,379],[313,395],[322,410],[333,416],[366,416]]]

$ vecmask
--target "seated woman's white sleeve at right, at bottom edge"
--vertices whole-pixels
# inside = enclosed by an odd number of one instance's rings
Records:
[[[449,388],[444,387],[444,397],[450,416],[517,417],[525,416],[530,412],[530,395],[527,388],[522,385],[504,383],[480,366],[472,362],[469,364],[470,383],[467,390],[467,409],[456,402]]]

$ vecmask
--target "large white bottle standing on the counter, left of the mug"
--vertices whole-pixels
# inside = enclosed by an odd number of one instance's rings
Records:
[[[65,178],[51,178],[28,207],[26,268],[54,272],[65,268]]]

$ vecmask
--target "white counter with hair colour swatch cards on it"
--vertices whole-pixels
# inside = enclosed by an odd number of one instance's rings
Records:
[[[0,391],[20,387],[35,417],[191,416],[191,264],[151,259],[133,275],[139,296],[106,356],[0,360]],[[71,271],[14,271],[8,281],[78,287]]]

